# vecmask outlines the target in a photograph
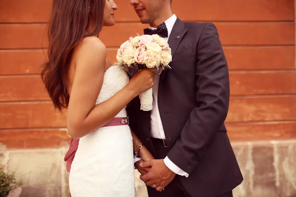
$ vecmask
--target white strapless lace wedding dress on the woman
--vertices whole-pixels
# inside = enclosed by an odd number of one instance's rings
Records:
[[[101,103],[122,89],[129,79],[118,66],[104,73]],[[115,117],[126,117],[122,109]],[[128,125],[103,127],[79,139],[71,166],[72,197],[135,197],[133,142]]]

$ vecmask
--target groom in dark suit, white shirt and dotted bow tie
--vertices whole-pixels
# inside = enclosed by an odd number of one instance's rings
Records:
[[[152,111],[140,110],[139,97],[127,106],[130,127],[156,158],[135,165],[149,197],[232,197],[243,177],[224,126],[229,76],[219,35],[212,23],[181,21],[171,1],[131,0],[149,24],[144,33],[166,39],[173,55],[172,69],[156,76]]]

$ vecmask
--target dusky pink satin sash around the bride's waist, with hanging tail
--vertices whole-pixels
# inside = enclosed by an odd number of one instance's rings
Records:
[[[104,127],[112,127],[112,126],[121,126],[128,125],[128,117],[127,118],[113,118],[109,123],[104,125]],[[72,139],[70,143],[69,150],[67,151],[64,161],[66,162],[66,169],[70,172],[72,162],[75,157],[76,150],[78,148],[79,139]]]

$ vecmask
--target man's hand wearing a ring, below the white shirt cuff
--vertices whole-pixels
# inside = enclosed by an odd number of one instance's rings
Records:
[[[140,179],[146,185],[155,188],[157,191],[162,191],[175,178],[176,173],[170,170],[163,160],[151,160],[140,163],[141,167],[151,167],[146,175],[141,175]]]

